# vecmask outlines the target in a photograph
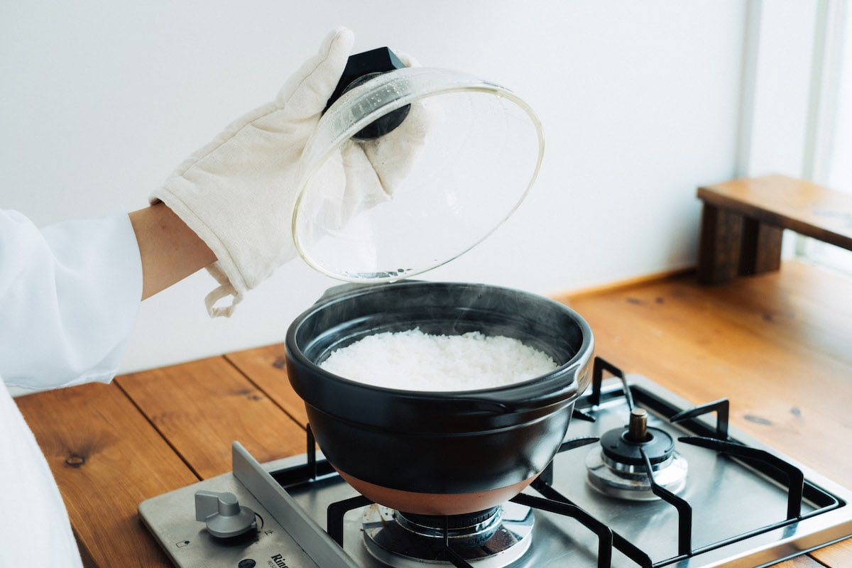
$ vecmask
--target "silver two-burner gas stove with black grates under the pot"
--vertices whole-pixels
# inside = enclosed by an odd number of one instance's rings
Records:
[[[268,463],[234,442],[232,473],[141,519],[181,568],[752,567],[852,535],[852,491],[728,427],[727,399],[693,406],[600,358],[550,466],[486,511],[369,502],[307,442]]]

